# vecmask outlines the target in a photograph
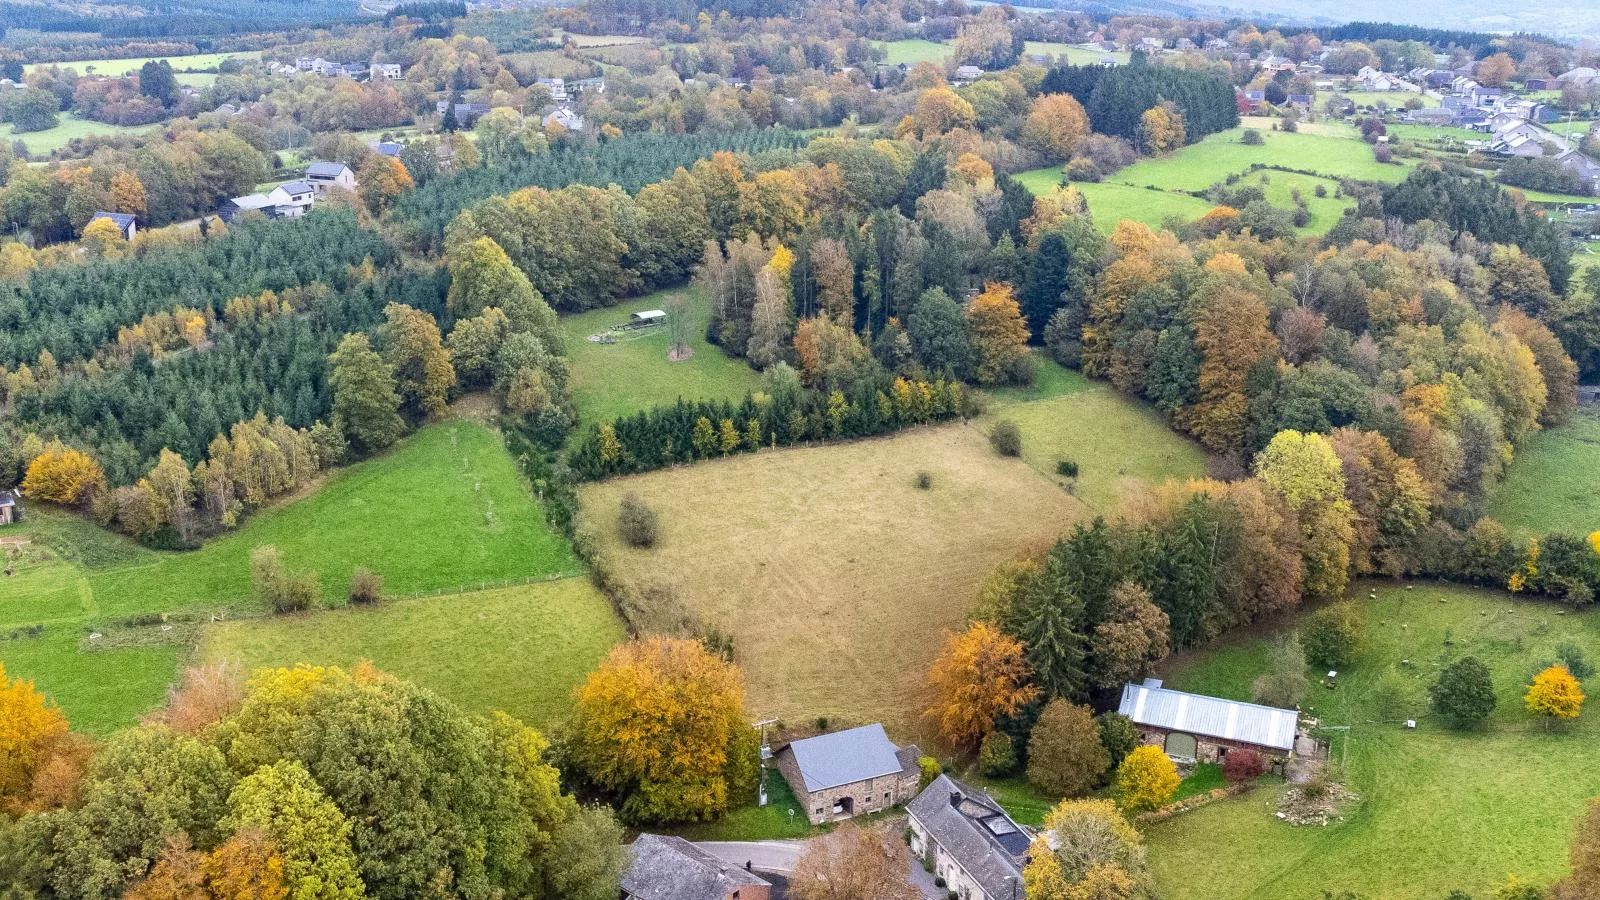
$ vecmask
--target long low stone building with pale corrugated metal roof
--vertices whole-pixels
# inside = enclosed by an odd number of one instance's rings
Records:
[[[1301,737],[1294,709],[1170,690],[1154,677],[1125,684],[1117,711],[1178,762],[1222,762],[1229,751],[1253,749],[1278,767]]]

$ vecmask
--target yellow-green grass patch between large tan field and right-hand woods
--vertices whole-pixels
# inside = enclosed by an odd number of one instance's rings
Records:
[[[1046,400],[997,400],[978,426],[987,431],[1000,420],[1022,431],[1022,458],[1030,466],[1099,516],[1114,517],[1130,490],[1205,476],[1198,444],[1104,383],[1085,380],[1080,389]],[[1061,460],[1078,464],[1075,479],[1056,474]]]

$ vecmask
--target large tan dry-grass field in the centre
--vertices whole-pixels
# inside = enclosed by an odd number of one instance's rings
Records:
[[[917,474],[933,485],[920,490]],[[661,541],[618,536],[637,493]],[[614,577],[664,588],[733,636],[747,711],[835,727],[882,721],[936,745],[925,674],[1000,562],[1042,549],[1088,508],[950,423],[870,440],[763,450],[584,485],[581,527]]]

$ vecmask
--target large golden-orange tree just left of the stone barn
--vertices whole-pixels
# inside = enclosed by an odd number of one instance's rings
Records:
[[[730,796],[754,790],[744,677],[698,641],[616,647],[576,700],[573,761],[621,798],[627,820],[715,818]]]

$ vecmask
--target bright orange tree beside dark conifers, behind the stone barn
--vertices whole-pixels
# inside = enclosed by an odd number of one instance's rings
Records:
[[[1038,695],[1029,684],[1022,644],[987,621],[946,639],[928,671],[933,703],[926,716],[952,745],[978,746],[998,716],[1010,716]]]

